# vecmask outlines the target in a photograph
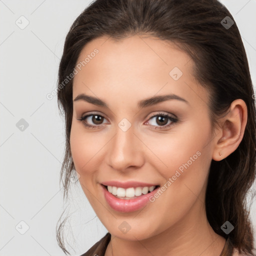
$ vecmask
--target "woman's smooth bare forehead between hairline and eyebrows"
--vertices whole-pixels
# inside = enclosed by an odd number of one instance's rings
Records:
[[[73,98],[92,91],[101,98],[109,93],[125,96],[131,91],[140,97],[141,91],[143,97],[157,92],[179,93],[197,100],[198,96],[205,97],[193,77],[192,59],[174,42],[142,35],[119,41],[102,36],[83,47],[76,65],[79,63],[80,70],[77,69],[73,80]]]

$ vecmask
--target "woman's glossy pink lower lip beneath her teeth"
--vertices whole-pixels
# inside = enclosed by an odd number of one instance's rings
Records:
[[[141,194],[140,196],[134,199],[120,199],[115,197],[111,193],[109,193],[108,190],[103,185],[101,185],[101,187],[103,188],[103,193],[107,203],[114,210],[121,211],[121,212],[131,212],[131,211],[135,211],[142,208],[149,202],[149,197],[153,196],[154,193],[159,188],[158,187],[147,194]]]

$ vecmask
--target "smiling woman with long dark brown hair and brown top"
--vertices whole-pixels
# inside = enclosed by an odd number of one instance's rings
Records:
[[[74,169],[108,230],[84,256],[253,255],[253,87],[221,3],[95,0],[58,82],[64,196]]]

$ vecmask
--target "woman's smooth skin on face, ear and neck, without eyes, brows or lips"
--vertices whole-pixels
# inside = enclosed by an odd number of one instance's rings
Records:
[[[175,44],[145,35],[119,42],[102,36],[84,46],[77,63],[94,48],[99,52],[74,77],[73,99],[80,93],[96,96],[109,109],[74,101],[70,146],[81,187],[111,234],[105,255],[218,256],[225,239],[207,221],[206,182],[211,160],[222,160],[239,145],[247,120],[246,104],[234,100],[211,136],[209,94],[192,76],[190,57]],[[176,81],[169,75],[175,66],[183,73]],[[139,100],[169,93],[188,104],[171,99],[137,107]],[[91,112],[104,117],[101,127],[89,129],[85,121],[77,120]],[[179,122],[157,129],[161,124],[150,117],[159,112]],[[131,124],[125,132],[118,127],[123,118]],[[91,116],[86,120],[100,125]],[[105,201],[101,182],[139,180],[161,186],[196,151],[200,156],[144,208],[117,212]],[[124,220],[131,227],[126,233],[118,228]]]

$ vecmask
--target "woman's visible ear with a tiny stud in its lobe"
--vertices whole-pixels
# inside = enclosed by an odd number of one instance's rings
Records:
[[[215,161],[220,161],[231,154],[241,142],[247,123],[245,102],[242,99],[235,99],[230,104],[229,112],[220,119],[220,128],[216,131],[212,152],[212,159]]]

